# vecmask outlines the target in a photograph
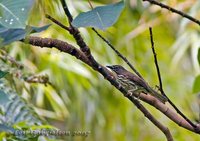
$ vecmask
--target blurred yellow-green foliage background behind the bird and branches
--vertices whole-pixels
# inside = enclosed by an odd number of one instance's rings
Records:
[[[116,2],[95,0],[93,6]],[[198,0],[163,0],[174,8],[198,18]],[[87,0],[67,0],[73,16],[90,10]],[[37,0],[29,24],[42,26],[51,23],[49,14],[65,25],[67,18],[59,0]],[[199,30],[194,23],[158,6],[140,0],[127,0],[118,22],[104,35],[139,70],[152,87],[158,85],[151,52],[149,26],[153,35],[163,85],[166,94],[192,120],[199,120],[196,95],[192,95],[195,76],[199,74],[197,52]],[[80,28],[94,57],[103,65],[127,65],[91,29]],[[62,28],[53,24],[47,31],[35,36],[67,41],[75,46],[74,39]],[[66,131],[89,131],[87,137],[65,136],[74,141],[160,141],[164,135],[123,97],[104,78],[88,66],[56,49],[32,47],[12,43],[4,48],[10,56],[24,64],[24,73],[47,74],[52,85],[29,84],[14,78],[10,81],[22,97],[31,102],[39,115],[51,125]],[[200,139],[180,128],[149,105],[152,114],[169,127],[175,140]]]

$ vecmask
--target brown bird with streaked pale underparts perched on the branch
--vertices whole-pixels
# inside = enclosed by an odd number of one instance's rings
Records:
[[[137,75],[129,72],[124,67],[120,65],[112,65],[106,66],[112,72],[114,72],[114,76],[116,81],[127,90],[128,94],[132,95],[132,93],[139,94],[141,92],[145,94],[150,94],[160,100],[162,103],[165,103],[168,99],[164,96],[159,94],[153,88],[151,88],[146,81],[142,78],[138,77]]]

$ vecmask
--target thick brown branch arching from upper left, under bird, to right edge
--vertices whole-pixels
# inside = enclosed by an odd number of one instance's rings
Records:
[[[30,36],[30,37],[28,37],[28,39],[22,40],[22,41],[24,41],[24,43],[31,44],[34,46],[47,47],[47,48],[55,47],[62,52],[65,52],[65,53],[71,54],[72,56],[75,56],[77,59],[83,61],[87,65],[91,66],[94,70],[101,73],[105,79],[107,79],[113,86],[115,86],[119,91],[121,91],[123,93],[123,95],[125,97],[127,97],[130,101],[132,101],[135,105],[140,105],[135,100],[133,100],[133,97],[131,97],[130,95],[127,95],[127,91],[116,82],[115,77],[106,67],[104,67],[98,63],[97,63],[98,66],[96,67],[96,64],[95,65],[92,64],[92,62],[90,62],[90,60],[88,60],[88,58],[85,56],[85,54],[83,54],[80,50],[75,48],[73,45],[68,44],[67,42],[64,42],[61,40],[57,40],[57,39],[40,38],[40,37],[33,37],[33,36]],[[133,93],[133,96],[138,97],[138,94]],[[177,113],[175,113],[173,110],[171,110],[169,107],[167,107],[167,105],[164,105],[163,103],[161,103],[155,97],[153,97],[151,95],[146,95],[144,93],[141,93],[139,97],[142,101],[150,104],[151,106],[153,106],[156,109],[158,109],[159,111],[161,111],[163,114],[165,114],[169,119],[174,121],[179,126],[185,128],[185,129],[188,129],[192,132],[200,134],[200,125],[199,124],[196,124],[197,128],[194,129],[186,120],[184,120],[182,117],[177,115]],[[139,110],[141,110],[141,109],[139,109]],[[144,114],[148,115],[147,113],[144,113]]]

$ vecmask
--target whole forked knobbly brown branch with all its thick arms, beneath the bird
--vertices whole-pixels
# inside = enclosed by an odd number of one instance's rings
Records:
[[[144,0],[144,1],[147,1],[147,0]],[[152,1],[152,0],[148,0],[148,1]],[[66,30],[69,31],[69,33],[74,37],[74,39],[76,40],[77,44],[80,47],[80,50],[75,48],[71,44],[68,44],[67,42],[63,42],[57,39],[50,39],[50,38],[28,37],[27,43],[35,45],[35,46],[40,46],[40,47],[48,47],[48,48],[55,47],[59,49],[60,51],[63,51],[63,52],[71,54],[72,56],[75,56],[77,59],[83,61],[84,63],[92,67],[95,71],[98,71],[99,73],[101,73],[105,79],[107,79],[113,86],[115,86],[126,98],[132,101],[132,103],[135,106],[137,106],[138,109],[166,135],[168,141],[172,141],[173,138],[169,130],[165,126],[163,126],[159,121],[157,121],[157,119],[154,118],[154,116],[151,115],[151,113],[149,113],[148,110],[137,99],[135,99],[135,96],[138,96],[138,95],[137,94],[133,94],[132,96],[128,95],[127,91],[121,85],[118,84],[113,74],[106,67],[99,64],[93,58],[90,48],[84,42],[82,36],[80,35],[79,30],[71,25],[73,18],[70,11],[68,10],[67,4],[65,3],[64,0],[61,0],[61,2],[70,24],[70,27],[69,28],[67,27]],[[163,6],[163,8],[166,8],[166,7]],[[175,11],[175,10],[172,10],[172,11]],[[27,40],[22,40],[22,41],[27,41]],[[163,114],[165,114],[168,118],[170,118],[179,126],[185,129],[188,129],[192,132],[200,134],[199,124],[196,124],[196,128],[194,128],[184,118],[180,117],[177,113],[172,111],[170,108],[167,107],[167,105],[164,105],[155,97],[141,93],[140,99],[152,105],[153,107],[157,108],[159,111],[161,111]]]

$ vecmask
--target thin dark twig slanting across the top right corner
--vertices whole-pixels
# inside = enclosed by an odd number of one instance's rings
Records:
[[[148,2],[150,2],[151,4],[158,5],[158,6],[160,6],[161,8],[165,8],[165,9],[171,11],[171,12],[174,12],[174,13],[176,13],[176,14],[178,14],[178,15],[181,15],[182,17],[185,17],[185,18],[189,19],[190,21],[192,21],[192,22],[194,22],[194,23],[200,25],[200,21],[199,21],[199,20],[193,18],[193,17],[190,16],[190,15],[185,14],[184,12],[181,12],[181,11],[179,11],[179,10],[177,10],[177,9],[174,9],[174,8],[172,8],[172,7],[170,7],[170,6],[167,6],[167,5],[165,5],[165,4],[162,4],[162,3],[157,2],[157,1],[155,1],[155,0],[143,0],[143,1],[148,1]]]

